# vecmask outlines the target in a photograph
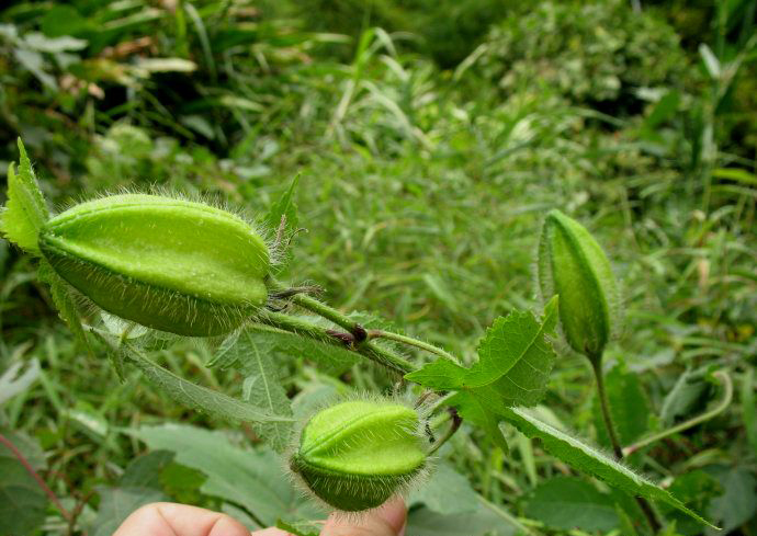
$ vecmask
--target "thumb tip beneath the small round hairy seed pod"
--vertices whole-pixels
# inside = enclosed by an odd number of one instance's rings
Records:
[[[404,536],[406,521],[405,502],[397,498],[357,518],[331,514],[320,536]]]

